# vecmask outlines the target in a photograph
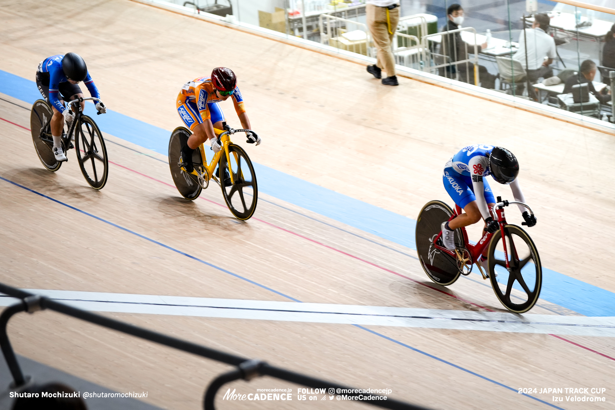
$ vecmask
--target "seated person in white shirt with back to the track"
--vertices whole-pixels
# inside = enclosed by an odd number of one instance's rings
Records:
[[[519,35],[519,49],[512,56],[519,61],[528,74],[530,84],[536,84],[540,77],[553,77],[553,69],[550,67],[553,59],[557,57],[555,51],[555,40],[547,34],[549,30],[549,16],[544,13],[534,15],[534,23],[532,28],[526,29],[525,33],[521,31]],[[525,47],[527,39],[528,47]],[[527,50],[527,58],[525,51]],[[527,65],[526,65],[527,61]],[[523,93],[523,84],[519,84],[518,93]],[[534,87],[528,90],[530,98],[536,100],[536,92]]]

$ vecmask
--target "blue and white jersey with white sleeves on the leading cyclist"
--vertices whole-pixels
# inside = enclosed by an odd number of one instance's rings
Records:
[[[483,192],[485,191],[485,184],[483,184],[483,178],[491,175],[489,169],[489,156],[491,151],[495,148],[493,145],[469,145],[461,149],[461,151],[454,154],[453,158],[446,162],[445,168],[453,168],[453,171],[459,173],[459,175],[470,176],[472,178],[472,191]],[[515,201],[525,202],[525,197],[519,186],[518,179],[515,178],[510,183],[510,190],[515,198]],[[489,218],[489,207],[485,200],[485,195],[476,195],[476,202],[480,215],[484,219]],[[526,209],[518,205],[520,211]]]

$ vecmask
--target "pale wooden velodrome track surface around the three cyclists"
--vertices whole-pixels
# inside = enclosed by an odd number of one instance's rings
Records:
[[[428,200],[450,203],[441,175],[454,152],[471,143],[505,146],[520,159],[525,196],[538,216],[529,232],[543,266],[615,292],[612,135],[409,79],[382,87],[354,63],[127,0],[4,0],[0,6],[1,70],[31,80],[39,61],[77,52],[110,109],[172,130],[181,125],[174,105],[181,85],[229,66],[263,137],[258,147],[235,138],[254,162],[409,218]],[[504,311],[478,277],[441,288],[429,282],[415,251],[272,195],[260,195],[255,217],[245,223],[220,206],[217,186],[194,202],[180,199],[165,152],[114,135],[105,134],[113,163],[100,192],[85,184],[72,152],[50,173],[25,129],[30,112],[19,105],[29,105],[0,97],[1,282],[40,290],[279,302],[288,295],[318,304]],[[236,124],[231,103],[223,108]],[[495,189],[511,196],[506,187]],[[516,210],[507,217],[521,222]],[[578,315],[543,300],[530,313]],[[549,408],[552,395],[533,394],[542,401],[534,400],[518,394],[521,387],[607,388],[606,402],[552,403],[566,409],[613,408],[615,401],[613,337],[104,314],[317,377],[391,388],[395,398],[432,408]],[[17,315],[9,334],[21,355],[117,391],[148,391],[145,401],[168,409],[199,408],[205,385],[227,369],[51,312]],[[243,392],[288,387],[272,379],[230,386]],[[296,398],[218,403],[223,409],[360,406]]]

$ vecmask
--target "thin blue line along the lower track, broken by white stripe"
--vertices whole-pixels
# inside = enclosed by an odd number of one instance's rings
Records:
[[[109,225],[111,225],[111,226],[114,226],[114,227],[116,227],[116,228],[119,228],[119,229],[121,229],[122,231],[129,232],[130,234],[136,235],[136,236],[140,237],[141,239],[145,239],[145,240],[147,240],[147,241],[149,241],[149,242],[156,243],[156,245],[160,245],[160,246],[162,246],[162,247],[164,247],[164,248],[167,248],[167,249],[169,249],[169,250],[172,250],[173,252],[177,252],[177,253],[179,253],[179,254],[182,254],[183,256],[187,256],[188,258],[191,258],[191,259],[194,259],[195,261],[201,262],[202,264],[205,264],[205,265],[207,265],[207,266],[213,267],[214,269],[218,269],[218,270],[220,270],[221,272],[224,272],[224,273],[229,274],[229,275],[232,275],[232,276],[234,276],[234,277],[236,277],[236,278],[239,278],[239,279],[245,280],[245,282],[252,283],[252,285],[259,286],[260,288],[266,289],[266,290],[268,290],[268,291],[272,291],[273,293],[279,294],[280,296],[284,296],[284,298],[290,299],[290,300],[292,300],[292,301],[302,303],[300,300],[295,299],[295,298],[292,298],[291,296],[288,296],[288,295],[286,295],[286,294],[284,294],[284,293],[281,293],[281,292],[279,292],[279,291],[277,291],[277,290],[273,290],[272,288],[269,288],[268,286],[261,285],[260,283],[256,283],[256,282],[254,282],[253,280],[250,280],[250,279],[248,279],[248,278],[245,278],[245,277],[242,277],[242,276],[240,276],[240,275],[234,274],[234,273],[230,272],[229,270],[226,270],[226,269],[223,269],[223,268],[221,268],[221,267],[215,266],[214,264],[211,264],[211,263],[209,263],[209,262],[205,262],[205,261],[204,261],[204,260],[202,260],[202,259],[196,258],[196,256],[192,256],[191,254],[188,254],[188,253],[182,252],[182,251],[180,251],[180,250],[177,250],[177,249],[175,249],[175,248],[172,248],[172,247],[171,247],[171,246],[169,246],[169,245],[165,245],[165,244],[164,244],[164,243],[162,243],[162,242],[158,242],[157,240],[154,240],[154,239],[148,238],[148,237],[146,237],[145,235],[138,234],[138,233],[137,233],[137,232],[135,232],[135,231],[131,231],[130,229],[127,229],[127,228],[125,228],[125,227],[123,227],[123,226],[119,226],[118,224],[114,224],[113,222],[110,222],[110,221],[107,221],[106,219],[100,218],[100,216],[92,215],[92,214],[91,214],[91,213],[89,213],[89,212],[86,212],[86,211],[80,210],[79,208],[76,208],[76,207],[73,207],[73,206],[71,206],[71,205],[68,205],[68,203],[64,203],[64,202],[62,202],[62,201],[60,201],[60,200],[54,199],[54,198],[49,197],[49,196],[47,196],[47,195],[45,195],[45,194],[41,194],[41,192],[34,191],[34,189],[30,189],[30,188],[28,188],[28,187],[25,187],[25,186],[23,186],[22,184],[18,184],[18,183],[14,182],[14,181],[11,181],[10,179],[3,178],[2,176],[0,176],[0,179],[2,179],[2,181],[6,181],[7,183],[10,183],[10,184],[13,184],[13,185],[15,185],[15,186],[18,186],[18,187],[20,187],[20,188],[22,188],[22,189],[25,189],[26,191],[30,191],[30,192],[32,192],[33,194],[40,195],[40,196],[41,196],[41,197],[43,197],[43,198],[46,198],[46,199],[52,200],[52,201],[54,201],[54,202],[56,202],[56,203],[59,203],[60,205],[63,205],[63,206],[65,206],[65,207],[67,207],[67,208],[71,208],[71,209],[72,209],[72,210],[74,210],[74,211],[80,212],[80,213],[82,213],[82,214],[84,214],[84,215],[87,215],[87,216],[90,216],[90,217],[92,217],[92,218],[94,218],[94,219],[98,219],[98,221],[101,221],[101,222],[104,222],[104,223],[109,224]],[[490,378],[488,378],[488,377],[481,376],[480,374],[475,373],[475,372],[473,372],[473,371],[471,371],[471,370],[468,370],[468,369],[462,368],[461,366],[455,365],[454,363],[451,363],[450,361],[446,361],[446,360],[444,360],[444,359],[441,359],[441,358],[439,358],[439,357],[436,357],[436,356],[434,356],[434,355],[431,355],[431,354],[429,354],[429,353],[427,353],[427,352],[423,352],[423,350],[419,350],[419,349],[416,349],[415,347],[411,347],[410,345],[407,345],[407,344],[405,344],[405,343],[402,343],[402,342],[400,342],[400,341],[397,341],[397,340],[395,340],[395,339],[392,339],[391,337],[384,336],[384,334],[378,333],[378,332],[376,332],[376,331],[370,330],[370,329],[365,328],[365,327],[360,326],[360,325],[353,325],[353,326],[356,326],[356,327],[357,327],[357,328],[359,328],[359,329],[363,329],[363,330],[365,330],[365,331],[368,331],[368,332],[369,332],[369,333],[371,333],[371,334],[375,334],[376,336],[383,337],[384,339],[387,339],[388,341],[391,341],[391,342],[394,342],[394,343],[396,343],[396,344],[399,344],[400,346],[406,347],[407,349],[413,350],[413,351],[415,351],[415,352],[417,352],[417,353],[421,353],[422,355],[425,355],[425,356],[427,356],[427,357],[431,357],[432,359],[438,360],[438,361],[440,361],[440,362],[442,362],[442,363],[445,363],[446,365],[453,366],[454,368],[457,368],[457,369],[459,369],[459,370],[465,371],[465,372],[467,372],[467,373],[469,373],[469,374],[472,374],[473,376],[480,377],[481,379],[483,379],[483,380],[487,380],[488,382],[491,382],[491,383],[493,383],[493,384],[496,384],[496,385],[498,385],[498,386],[500,386],[500,387],[507,388],[508,390],[512,390],[512,391],[513,391],[513,392],[515,392],[515,393],[517,393],[517,392],[518,392],[515,388],[509,387],[509,386],[507,386],[507,385],[505,385],[505,384],[501,384],[500,382],[496,382],[496,380],[490,379]],[[547,403],[547,401],[540,400],[540,399],[539,399],[539,398],[537,398],[537,397],[534,397],[534,396],[531,396],[531,395],[528,395],[528,394],[525,394],[525,393],[522,393],[522,394],[523,394],[524,396],[530,397],[530,398],[532,398],[532,399],[534,399],[534,400],[536,400],[536,401],[539,401],[539,402],[541,402],[541,403],[547,404],[548,406],[551,406],[552,408],[555,408],[555,409],[560,409],[560,410],[565,410],[565,409],[562,409],[562,408],[560,408],[560,407],[558,407],[558,406],[554,406],[554,404]]]

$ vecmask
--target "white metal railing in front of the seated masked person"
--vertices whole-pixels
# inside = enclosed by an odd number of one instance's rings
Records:
[[[450,47],[455,47],[457,43],[456,33],[459,33],[459,36],[461,36],[462,39],[461,43],[465,47],[464,50],[466,51],[466,55],[469,57],[469,53],[467,52],[467,37],[463,36],[462,34],[464,32],[469,32],[470,35],[474,34],[474,57],[458,60],[458,55],[456,55],[456,48],[453,50],[449,49]],[[446,41],[445,37],[447,38]],[[466,41],[463,41],[464,37],[466,37]],[[478,85],[478,83],[480,83],[480,79],[478,78],[478,44],[476,41],[476,30],[474,30],[474,28],[466,27],[450,31],[440,31],[440,33],[427,34],[426,36],[423,36],[421,40],[423,41],[423,47],[425,47],[426,50],[429,50],[429,55],[431,57],[427,58],[427,62],[429,62],[430,64],[426,65],[423,71],[427,71],[432,74],[438,74],[440,76],[458,81],[464,81],[464,79],[459,77],[459,74],[461,72],[461,74],[465,74],[466,76],[464,82],[474,85]],[[434,50],[437,45],[440,49],[439,53],[435,52]],[[431,63],[434,63],[434,65],[431,65]],[[469,69],[468,63],[472,63],[474,65],[474,68]],[[459,69],[464,65],[465,69]],[[435,72],[436,70],[437,72]],[[472,75],[474,75],[473,79],[471,77]]]

